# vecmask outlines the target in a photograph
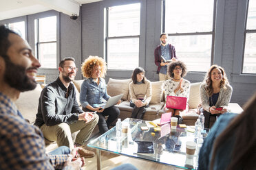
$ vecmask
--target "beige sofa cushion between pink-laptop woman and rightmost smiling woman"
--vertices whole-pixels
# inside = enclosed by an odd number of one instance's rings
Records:
[[[189,108],[197,108],[198,104],[201,103],[200,100],[200,84],[198,83],[191,83],[190,91],[189,91]]]

